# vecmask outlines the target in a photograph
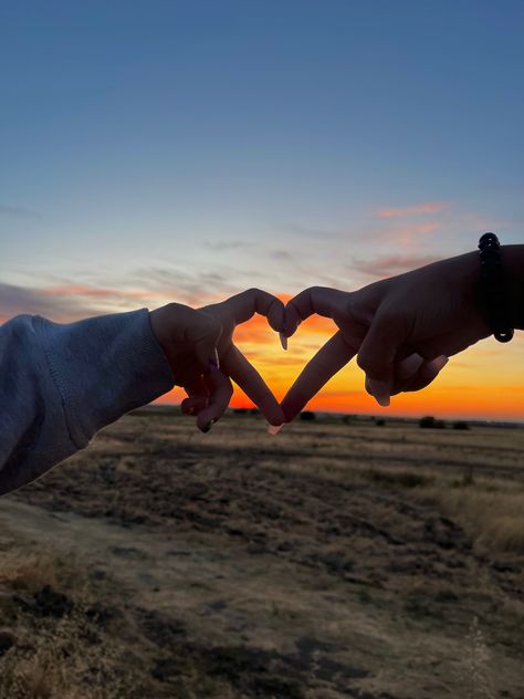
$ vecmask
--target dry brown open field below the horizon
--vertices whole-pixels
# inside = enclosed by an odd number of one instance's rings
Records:
[[[0,698],[524,699],[523,455],[127,416],[0,501]]]

